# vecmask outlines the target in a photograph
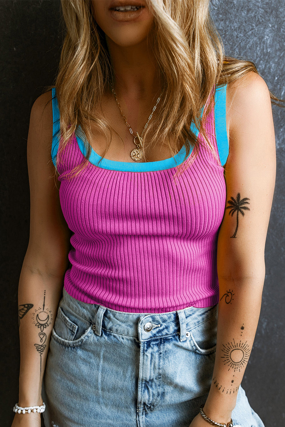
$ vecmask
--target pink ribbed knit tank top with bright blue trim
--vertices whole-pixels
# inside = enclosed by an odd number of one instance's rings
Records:
[[[198,139],[198,130],[191,128]],[[128,163],[93,149],[75,178],[64,175],[84,160],[80,128],[58,165],[62,211],[73,232],[65,290],[74,298],[129,313],[164,313],[218,302],[217,234],[223,219],[229,152],[226,86],[217,88],[206,132],[220,163],[201,145],[176,181],[185,146],[171,158]],[[80,137],[81,135],[81,137]],[[52,158],[59,145],[53,88]],[[189,160],[191,153],[186,159]]]

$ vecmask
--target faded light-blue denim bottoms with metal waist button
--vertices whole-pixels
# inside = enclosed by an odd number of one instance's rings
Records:
[[[188,427],[210,389],[216,333],[217,305],[125,313],[63,290],[44,374],[45,427]],[[241,387],[232,420],[264,427]]]

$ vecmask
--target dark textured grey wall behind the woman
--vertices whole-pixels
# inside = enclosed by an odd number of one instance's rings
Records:
[[[226,53],[252,60],[285,98],[285,1],[212,0]],[[18,401],[17,288],[29,238],[26,140],[32,103],[54,82],[62,45],[59,0],[0,1],[1,409],[10,426]],[[285,112],[273,108],[277,179],[266,243],[266,278],[256,340],[242,386],[265,426],[285,426]],[[261,207],[262,208],[262,207]]]

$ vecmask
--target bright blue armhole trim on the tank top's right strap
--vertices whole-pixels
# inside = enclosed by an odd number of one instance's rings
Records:
[[[229,140],[226,132],[226,85],[219,86],[215,91],[215,133],[217,148],[222,166],[229,155]]]

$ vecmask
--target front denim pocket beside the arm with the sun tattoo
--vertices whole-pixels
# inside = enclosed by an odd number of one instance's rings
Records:
[[[199,354],[212,354],[217,345],[217,307],[212,313],[207,312],[207,318],[195,328],[191,329],[190,342],[193,350]]]

